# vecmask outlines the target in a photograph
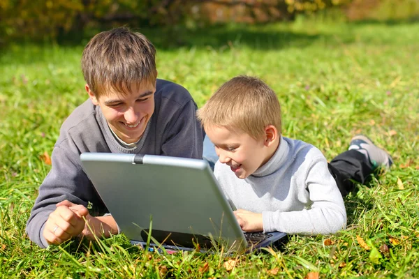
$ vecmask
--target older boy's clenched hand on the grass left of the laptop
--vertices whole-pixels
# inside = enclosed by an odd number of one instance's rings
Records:
[[[43,236],[49,244],[61,244],[78,236],[84,229],[83,217],[89,215],[87,208],[81,204],[64,201],[56,206],[57,209],[50,214],[43,230]]]

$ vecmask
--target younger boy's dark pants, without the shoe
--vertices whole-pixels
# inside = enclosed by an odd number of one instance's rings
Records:
[[[356,150],[340,153],[328,166],[343,197],[355,188],[355,183],[365,184],[369,181],[374,172],[365,155]]]

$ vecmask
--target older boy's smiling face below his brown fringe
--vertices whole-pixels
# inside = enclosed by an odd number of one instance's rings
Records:
[[[96,98],[87,85],[86,90],[94,105],[101,107],[110,128],[121,140],[127,144],[140,140],[154,112],[155,83],[133,83],[128,95],[111,90],[100,98]]]

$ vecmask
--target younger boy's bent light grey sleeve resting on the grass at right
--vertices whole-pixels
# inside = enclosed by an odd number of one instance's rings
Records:
[[[302,211],[264,211],[264,232],[288,234],[334,234],[346,227],[344,200],[325,158],[316,158],[307,171],[305,189],[310,204]]]

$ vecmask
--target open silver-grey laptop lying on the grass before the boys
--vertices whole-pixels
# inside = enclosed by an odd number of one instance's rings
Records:
[[[222,246],[244,252],[286,236],[244,233],[234,205],[223,195],[205,160],[122,153],[82,153],[80,160],[133,244],[145,247],[148,241],[149,249],[201,251]]]

